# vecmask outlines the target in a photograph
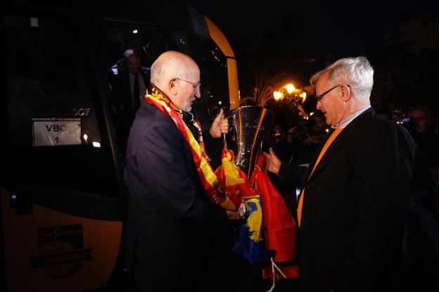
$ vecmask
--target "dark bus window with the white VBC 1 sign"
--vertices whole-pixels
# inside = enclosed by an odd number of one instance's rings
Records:
[[[6,15],[6,184],[118,196],[96,84],[75,24]],[[6,147],[6,148],[5,148]]]

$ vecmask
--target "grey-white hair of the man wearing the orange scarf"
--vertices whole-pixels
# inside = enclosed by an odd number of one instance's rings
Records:
[[[374,87],[374,69],[367,58],[342,58],[312,75],[311,84],[316,84],[326,72],[329,73],[328,80],[334,85],[347,84],[355,97],[369,99]]]

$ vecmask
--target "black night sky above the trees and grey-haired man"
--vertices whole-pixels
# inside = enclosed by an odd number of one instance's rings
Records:
[[[333,51],[334,57],[358,56],[402,15],[431,18],[438,15],[435,1],[256,1],[189,0],[191,6],[210,18],[227,38],[246,34],[252,46],[265,32],[276,30],[284,15],[299,14],[308,56]]]

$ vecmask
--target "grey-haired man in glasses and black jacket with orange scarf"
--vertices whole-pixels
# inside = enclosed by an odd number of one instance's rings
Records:
[[[270,149],[267,170],[302,179],[297,206],[301,291],[397,291],[414,143],[370,106],[367,58],[342,58],[311,78],[333,132],[305,175]]]

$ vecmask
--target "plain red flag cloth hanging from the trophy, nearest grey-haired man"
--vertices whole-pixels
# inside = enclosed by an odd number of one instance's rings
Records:
[[[295,259],[296,224],[288,210],[284,198],[274,188],[264,171],[265,156],[257,158],[251,182],[262,201],[264,214],[265,243],[267,249],[274,250],[272,265],[264,269],[264,277],[291,279],[299,276]]]

